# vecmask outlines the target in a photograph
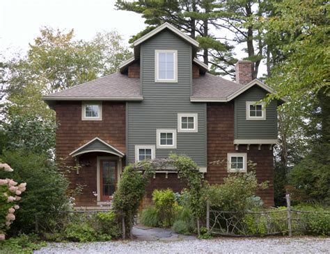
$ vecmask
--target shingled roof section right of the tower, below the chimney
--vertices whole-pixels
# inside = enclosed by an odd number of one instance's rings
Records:
[[[220,76],[214,76],[206,73],[199,78],[193,79],[193,94],[190,97],[191,102],[228,102],[235,99],[249,88],[257,85],[269,93],[275,91],[262,83],[258,79],[251,81],[246,85],[241,85],[233,81],[228,81]],[[286,101],[281,98],[281,101]]]

